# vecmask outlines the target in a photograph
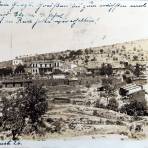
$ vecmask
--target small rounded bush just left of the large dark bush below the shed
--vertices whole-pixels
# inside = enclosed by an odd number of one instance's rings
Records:
[[[115,98],[111,98],[109,100],[108,105],[107,105],[108,109],[114,110],[114,111],[118,110],[118,106],[119,106],[119,104],[118,104],[118,102],[117,102],[117,100]]]

